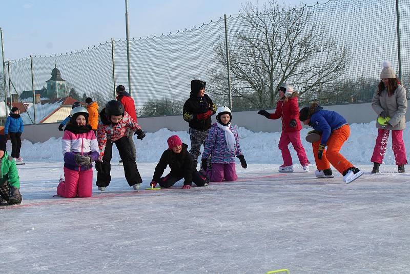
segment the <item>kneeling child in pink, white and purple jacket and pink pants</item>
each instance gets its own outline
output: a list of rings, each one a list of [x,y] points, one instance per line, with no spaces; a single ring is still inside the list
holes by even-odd
[[[93,165],[99,149],[95,133],[88,124],[85,107],[75,107],[61,140],[64,155],[64,179],[60,179],[57,195],[64,198],[91,197]]]

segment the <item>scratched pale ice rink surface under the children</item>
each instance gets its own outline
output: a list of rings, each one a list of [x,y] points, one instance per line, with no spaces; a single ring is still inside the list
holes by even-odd
[[[0,206],[0,272],[410,272],[410,173],[397,166],[359,165],[344,184],[315,178],[315,165],[237,165],[236,182],[161,190],[144,190],[155,163],[138,167],[140,192],[113,166],[105,192],[94,170],[92,198],[64,199],[53,197],[62,162],[18,166],[23,203]]]

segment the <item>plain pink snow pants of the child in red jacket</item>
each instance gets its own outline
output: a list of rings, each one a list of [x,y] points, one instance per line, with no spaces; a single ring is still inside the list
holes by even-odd
[[[283,165],[292,165],[292,156],[288,148],[290,143],[292,143],[293,148],[296,150],[300,164],[302,166],[308,165],[309,160],[300,141],[300,130],[293,132],[282,131],[282,134],[280,134],[279,149],[282,151]]]

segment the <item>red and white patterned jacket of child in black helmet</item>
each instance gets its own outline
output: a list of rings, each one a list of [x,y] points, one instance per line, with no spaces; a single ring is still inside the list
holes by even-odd
[[[136,132],[141,129],[141,127],[134,121],[134,119],[131,118],[127,111],[125,112],[122,120],[116,125],[113,125],[111,121],[108,120],[105,108],[101,110],[99,116],[100,121],[98,122],[97,128],[97,141],[99,147],[99,161],[101,161],[104,157],[104,150],[107,145],[107,140],[115,142],[124,136],[128,136],[128,128]]]

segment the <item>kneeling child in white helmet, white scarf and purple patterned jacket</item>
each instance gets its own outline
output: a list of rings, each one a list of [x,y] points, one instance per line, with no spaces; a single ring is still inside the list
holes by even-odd
[[[202,169],[207,172],[211,182],[236,181],[235,156],[243,168],[247,162],[240,150],[239,136],[236,127],[231,126],[232,112],[228,107],[218,107],[216,123],[208,133],[202,153]],[[207,159],[211,156],[211,170],[208,170]]]

